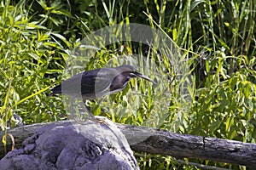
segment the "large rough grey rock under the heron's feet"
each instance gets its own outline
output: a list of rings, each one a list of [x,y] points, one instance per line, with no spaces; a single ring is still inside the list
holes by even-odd
[[[102,119],[102,118],[101,118]],[[125,135],[108,120],[42,127],[23,148],[0,160],[1,170],[139,169]]]

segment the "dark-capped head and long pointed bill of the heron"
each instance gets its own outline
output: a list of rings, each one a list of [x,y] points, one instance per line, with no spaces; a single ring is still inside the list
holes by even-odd
[[[116,67],[116,69],[122,74],[127,74],[128,77],[131,77],[131,78],[141,77],[147,80],[148,82],[153,82],[154,84],[156,84],[156,82],[144,76],[142,73],[138,72],[137,69],[132,65],[121,65],[119,67]]]

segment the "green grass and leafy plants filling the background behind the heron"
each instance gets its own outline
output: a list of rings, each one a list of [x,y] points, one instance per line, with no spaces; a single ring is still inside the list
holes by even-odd
[[[173,46],[177,51],[162,43],[164,47],[154,44],[145,53],[142,44],[117,42],[90,54],[84,61],[85,68],[77,71],[129,61],[143,63],[140,71],[165,81],[153,88],[148,82],[133,80],[123,92],[93,102],[92,111],[115,122],[255,143],[256,5],[253,0],[17,2],[0,3],[0,126],[3,131],[12,111],[26,124],[67,119],[62,99],[47,94],[49,88],[61,82],[66,63],[79,47],[79,40],[105,26],[138,23],[164,31],[177,44],[178,48]],[[182,60],[180,68],[188,69],[185,72],[189,74],[180,75],[168,54]],[[153,72],[147,69],[152,65],[150,62],[155,65]],[[186,86],[182,87],[183,84]],[[189,96],[181,95],[181,88]],[[163,89],[168,89],[170,95],[160,94]],[[198,169],[170,156],[139,154],[137,161],[142,169]],[[184,161],[245,169],[213,161]]]

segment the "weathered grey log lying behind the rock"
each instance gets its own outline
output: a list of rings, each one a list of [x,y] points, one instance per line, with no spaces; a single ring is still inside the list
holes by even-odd
[[[15,137],[15,148],[20,148],[24,139],[35,133],[39,127],[47,124],[64,122],[38,123],[10,129]],[[188,134],[172,133],[166,130],[148,127],[136,127],[116,124],[135,151],[180,158],[201,158],[231,164],[256,167],[256,144],[242,143],[234,140],[215,139]],[[3,132],[0,133],[3,137]],[[8,143],[11,145],[11,142]],[[0,144],[3,157],[3,144]]]

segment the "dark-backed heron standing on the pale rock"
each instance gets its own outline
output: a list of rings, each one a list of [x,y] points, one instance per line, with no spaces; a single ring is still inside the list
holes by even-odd
[[[121,65],[114,68],[101,68],[92,71],[84,71],[78,75],[61,82],[60,85],[51,89],[52,94],[67,94],[73,99],[97,99],[108,94],[114,94],[125,88],[127,83],[134,77],[141,77],[155,83],[148,77],[137,72],[132,65]],[[94,116],[88,110],[90,116]],[[74,113],[73,113],[74,114]]]

